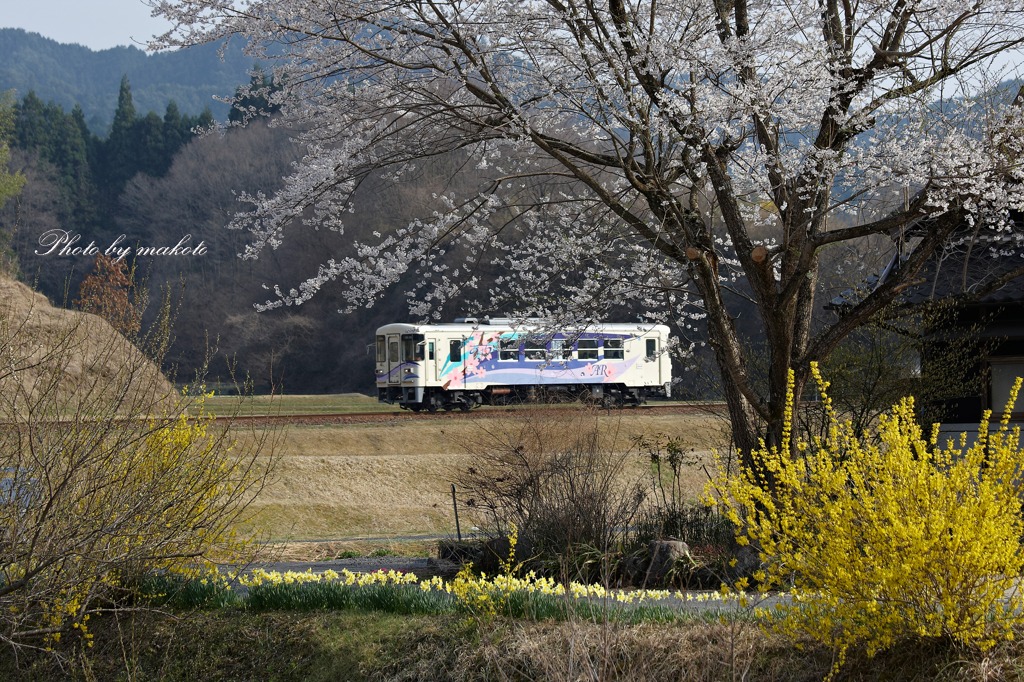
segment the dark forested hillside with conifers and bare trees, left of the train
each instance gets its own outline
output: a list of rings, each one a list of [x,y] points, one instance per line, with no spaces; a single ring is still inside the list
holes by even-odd
[[[360,191],[375,198],[374,209],[351,216],[344,235],[325,231],[253,262],[238,257],[249,236],[225,225],[241,208],[238,190],[270,193],[290,172],[300,148],[288,132],[255,121],[197,136],[213,121],[209,110],[188,114],[172,100],[161,113],[143,114],[127,78],[111,118],[110,134],[98,136],[80,106],[66,111],[31,91],[14,100],[10,165],[28,181],[0,211],[0,269],[71,306],[93,266],[91,256],[72,250],[94,243],[101,253],[118,243],[132,249],[126,262],[153,298],[164,287],[173,290],[179,307],[169,357],[179,376],[213,350],[214,378],[225,376],[223,358],[230,356],[261,389],[273,382],[290,392],[372,390],[368,339],[378,325],[407,317],[401,290],[349,315],[338,314],[345,301],[329,296],[265,313],[253,304],[267,299],[265,283],[308,276],[346,240],[407,223],[436,193],[458,186],[465,160],[440,159],[397,185],[368,179]],[[46,237],[65,233],[79,241],[61,246]],[[202,244],[203,253],[136,257],[139,247],[186,239]]]

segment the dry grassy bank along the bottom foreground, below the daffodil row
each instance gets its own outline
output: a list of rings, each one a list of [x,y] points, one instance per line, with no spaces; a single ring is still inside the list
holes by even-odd
[[[830,653],[745,624],[614,626],[573,621],[489,623],[464,616],[362,611],[180,614],[134,611],[90,623],[95,646],[77,667],[0,651],[0,678],[49,680],[722,680],[817,682]],[[65,644],[62,641],[61,644]],[[70,644],[74,647],[74,644]],[[874,658],[853,655],[837,682],[1020,680],[1016,642],[987,653],[913,642]]]

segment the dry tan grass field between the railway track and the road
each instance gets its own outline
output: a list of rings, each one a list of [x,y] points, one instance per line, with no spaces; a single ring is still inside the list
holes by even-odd
[[[209,407],[224,414],[237,398],[215,397]],[[398,411],[361,395],[287,396],[258,399],[242,414],[282,416]],[[635,435],[665,434],[679,438],[702,460],[726,444],[726,423],[712,414],[664,414],[655,411],[593,411],[558,408],[557,419],[593,420],[606,442],[620,451]],[[488,435],[520,420],[550,419],[552,410],[489,409],[465,418],[438,414],[409,419],[395,414],[376,421],[307,423],[297,419],[281,428],[273,481],[252,507],[249,527],[274,543],[353,542],[388,546],[416,536],[455,536],[452,481],[460,467],[471,466],[473,450]],[[315,422],[315,420],[312,420]],[[482,444],[481,444],[482,443]],[[646,463],[635,456],[635,471]],[[688,472],[687,491],[696,497],[707,476],[699,467]],[[461,510],[465,514],[468,510]],[[473,519],[462,518],[464,531]],[[364,540],[364,543],[367,542]]]

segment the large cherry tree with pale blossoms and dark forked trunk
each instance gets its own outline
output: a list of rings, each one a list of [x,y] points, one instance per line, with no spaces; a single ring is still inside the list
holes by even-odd
[[[156,47],[240,40],[274,65],[262,94],[305,156],[280,191],[244,197],[245,257],[345,230],[368,178],[446,154],[475,178],[265,307],[328,283],[367,304],[417,272],[428,316],[481,265],[504,271],[479,292],[493,309],[585,321],[634,298],[702,328],[742,452],[777,436],[791,368],[799,389],[954,233],[1011,235],[1024,200],[1021,113],[981,94],[1020,55],[1016,0],[151,4],[175,24]],[[871,237],[900,266],[812,325],[823,250]],[[733,291],[760,317],[763,382]]]

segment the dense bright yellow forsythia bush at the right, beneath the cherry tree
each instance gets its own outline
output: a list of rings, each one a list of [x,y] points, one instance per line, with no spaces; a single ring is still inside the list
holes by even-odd
[[[1024,620],[1024,452],[1010,409],[991,432],[986,414],[970,445],[966,435],[940,443],[937,427],[926,436],[912,398],[855,433],[813,373],[827,434],[794,442],[791,384],[781,445],[754,454],[769,489],[752,471],[713,485],[740,543],[760,550],[756,578],[792,592],[775,625],[831,646],[835,670],[857,646],[872,655],[916,637],[981,648],[1011,639]]]

